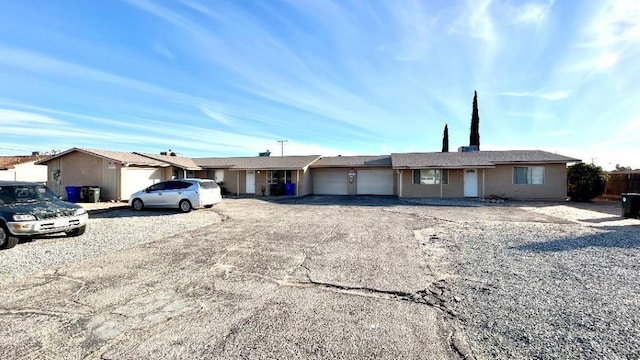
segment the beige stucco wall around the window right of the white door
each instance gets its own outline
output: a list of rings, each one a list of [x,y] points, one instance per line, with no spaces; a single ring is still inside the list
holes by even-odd
[[[544,184],[513,184],[513,168],[515,166],[544,166]],[[482,172],[479,173],[479,177]],[[567,197],[566,164],[527,164],[498,165],[495,169],[487,169],[485,174],[486,196],[499,195],[511,199],[564,200]],[[482,192],[482,188],[480,188]]]

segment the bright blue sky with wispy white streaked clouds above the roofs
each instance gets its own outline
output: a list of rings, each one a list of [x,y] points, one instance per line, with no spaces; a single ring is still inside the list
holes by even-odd
[[[0,0],[0,154],[541,149],[640,168],[640,2]]]

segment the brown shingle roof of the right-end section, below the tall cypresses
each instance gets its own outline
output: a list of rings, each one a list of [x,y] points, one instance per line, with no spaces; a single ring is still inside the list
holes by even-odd
[[[494,167],[515,163],[568,163],[579,159],[540,150],[391,154],[394,169]]]

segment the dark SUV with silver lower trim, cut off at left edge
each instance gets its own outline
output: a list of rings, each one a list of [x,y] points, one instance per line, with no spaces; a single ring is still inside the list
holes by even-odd
[[[0,181],[0,249],[35,235],[82,235],[88,218],[84,208],[60,200],[43,184]]]

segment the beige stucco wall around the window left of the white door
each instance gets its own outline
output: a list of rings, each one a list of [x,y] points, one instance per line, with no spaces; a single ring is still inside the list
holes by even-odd
[[[413,170],[400,170],[401,175],[396,177],[398,183],[402,181],[402,194],[400,189],[396,193],[402,197],[463,197],[464,196],[464,170],[449,169],[449,183],[442,184],[442,193],[440,192],[440,184],[426,185],[413,184]],[[399,178],[402,178],[400,180]],[[481,181],[479,176],[478,182]],[[481,189],[481,187],[478,187]]]

